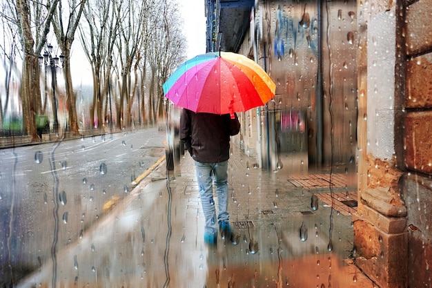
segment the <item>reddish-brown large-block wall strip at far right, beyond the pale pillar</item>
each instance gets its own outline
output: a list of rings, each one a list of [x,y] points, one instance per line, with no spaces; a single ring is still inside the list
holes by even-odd
[[[407,208],[409,287],[432,287],[432,5],[402,1],[401,61],[397,97],[403,142],[397,154],[405,171],[401,192]]]

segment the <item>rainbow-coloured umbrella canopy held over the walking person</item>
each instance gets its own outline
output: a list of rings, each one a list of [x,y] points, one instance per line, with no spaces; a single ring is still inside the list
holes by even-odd
[[[210,52],[181,64],[164,83],[165,97],[194,112],[231,114],[265,105],[276,85],[255,61]]]

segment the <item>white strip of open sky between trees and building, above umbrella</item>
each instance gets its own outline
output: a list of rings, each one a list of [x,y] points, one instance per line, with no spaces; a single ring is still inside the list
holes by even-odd
[[[188,40],[188,59],[206,52],[206,0],[179,1],[184,19],[184,31]]]

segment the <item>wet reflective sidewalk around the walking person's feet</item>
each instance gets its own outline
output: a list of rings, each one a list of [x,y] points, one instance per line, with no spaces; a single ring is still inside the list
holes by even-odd
[[[344,173],[267,172],[234,147],[237,244],[208,247],[193,160],[167,173],[163,158],[17,287],[376,287],[350,258],[357,193]]]

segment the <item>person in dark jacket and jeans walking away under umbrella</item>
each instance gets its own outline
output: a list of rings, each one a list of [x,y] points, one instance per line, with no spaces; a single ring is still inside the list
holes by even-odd
[[[179,135],[184,148],[195,160],[199,195],[206,219],[204,242],[207,244],[217,244],[217,224],[222,238],[230,238],[233,232],[228,213],[228,159],[230,136],[237,135],[239,131],[240,122],[235,113],[195,113],[186,108],[181,111]],[[217,193],[217,216],[213,182]]]

